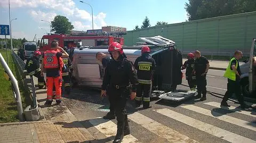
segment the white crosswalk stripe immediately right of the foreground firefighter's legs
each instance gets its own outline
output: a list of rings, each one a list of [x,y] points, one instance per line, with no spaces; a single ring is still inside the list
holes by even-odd
[[[138,112],[128,115],[128,118],[170,142],[198,142]]]

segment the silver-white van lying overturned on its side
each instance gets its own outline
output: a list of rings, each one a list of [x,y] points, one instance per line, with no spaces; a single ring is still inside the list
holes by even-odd
[[[150,47],[150,55],[155,59],[153,90],[170,91],[182,82],[182,54],[170,39],[161,36],[139,37],[145,41],[140,46],[123,46],[124,53],[133,63],[141,55],[142,45]],[[96,59],[97,52],[108,53],[107,46],[80,47],[73,53],[73,78],[78,86],[101,88],[103,68]]]

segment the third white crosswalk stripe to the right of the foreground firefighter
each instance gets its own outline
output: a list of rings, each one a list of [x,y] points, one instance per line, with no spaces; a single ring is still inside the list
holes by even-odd
[[[225,122],[228,122],[228,123],[231,123],[231,124],[238,125],[238,126],[243,127],[243,128],[247,128],[247,129],[256,131],[256,124],[255,123],[251,123],[251,122],[248,122],[248,121],[237,119],[235,117],[224,115],[224,114],[221,114],[221,113],[218,113],[218,112],[206,110],[205,108],[197,107],[195,105],[185,105],[185,106],[181,106],[181,107],[186,108],[187,110],[190,110],[190,111],[194,111],[194,112],[197,112],[197,113],[204,114],[206,116],[215,117],[215,118],[217,118],[221,121],[225,121]]]

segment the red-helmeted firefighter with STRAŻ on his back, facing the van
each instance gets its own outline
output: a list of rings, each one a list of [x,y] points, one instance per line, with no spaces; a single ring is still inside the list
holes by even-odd
[[[137,96],[135,98],[136,107],[141,105],[143,94],[143,108],[150,108],[150,95],[152,87],[153,71],[156,69],[156,62],[150,55],[150,48],[143,46],[141,56],[135,62],[134,67],[137,69],[139,85],[137,87]]]

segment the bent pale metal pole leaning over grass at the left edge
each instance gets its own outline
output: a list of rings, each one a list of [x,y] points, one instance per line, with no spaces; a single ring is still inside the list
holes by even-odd
[[[5,62],[4,57],[2,56],[1,53],[0,53],[0,61],[1,61],[1,64],[3,65],[4,70],[9,75],[9,77],[10,77],[10,79],[12,81],[13,88],[15,90],[14,92],[15,92],[15,95],[16,95],[16,102],[17,102],[19,120],[20,121],[24,121],[23,108],[22,108],[22,102],[21,102],[21,96],[20,96],[20,89],[19,89],[18,81],[14,77],[12,71],[10,70],[9,66]]]

